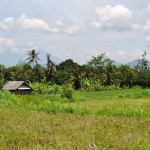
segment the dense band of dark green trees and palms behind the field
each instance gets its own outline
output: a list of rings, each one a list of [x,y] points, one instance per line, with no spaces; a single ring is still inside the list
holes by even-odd
[[[150,87],[150,69],[146,51],[134,68],[128,65],[115,66],[105,53],[92,57],[84,65],[79,65],[72,59],[55,64],[50,54],[47,54],[46,66],[40,64],[39,52],[36,52],[35,49],[29,50],[27,55],[28,58],[20,61],[16,66],[5,67],[0,64],[0,88],[6,82],[15,80],[51,85],[71,84],[75,90],[91,86],[95,90],[101,86]]]

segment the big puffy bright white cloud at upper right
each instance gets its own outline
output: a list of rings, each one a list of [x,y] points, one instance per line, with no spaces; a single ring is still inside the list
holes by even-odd
[[[92,26],[101,30],[126,30],[130,27],[132,12],[123,5],[97,7],[95,11],[96,19]]]

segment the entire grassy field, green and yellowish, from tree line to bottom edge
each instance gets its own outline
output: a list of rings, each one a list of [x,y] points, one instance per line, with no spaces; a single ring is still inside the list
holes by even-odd
[[[150,90],[0,92],[0,149],[150,149]]]

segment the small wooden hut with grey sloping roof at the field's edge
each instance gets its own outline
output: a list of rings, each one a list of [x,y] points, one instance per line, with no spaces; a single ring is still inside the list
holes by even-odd
[[[3,90],[8,90],[15,94],[31,94],[33,89],[25,84],[24,81],[9,81],[4,85]]]

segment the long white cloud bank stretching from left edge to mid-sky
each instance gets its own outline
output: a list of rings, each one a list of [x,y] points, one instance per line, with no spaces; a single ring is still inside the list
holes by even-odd
[[[66,33],[69,35],[77,34],[80,27],[77,23],[68,20],[67,18],[60,18],[56,21],[46,22],[39,18],[27,17],[22,14],[19,18],[8,17],[0,22],[1,29],[12,30],[36,30],[47,33]]]

